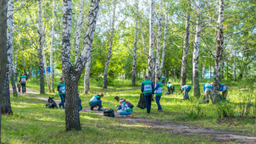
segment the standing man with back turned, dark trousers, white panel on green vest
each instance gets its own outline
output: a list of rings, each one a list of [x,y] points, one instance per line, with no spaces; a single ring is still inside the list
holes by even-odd
[[[151,80],[148,80],[148,76],[145,76],[145,80],[142,82],[142,93],[144,94],[145,97],[147,114],[150,114],[151,97],[153,95],[153,82]]]

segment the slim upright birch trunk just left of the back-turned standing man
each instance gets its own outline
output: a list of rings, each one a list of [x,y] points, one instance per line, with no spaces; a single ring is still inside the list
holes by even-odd
[[[136,13],[138,14],[138,0],[136,0]],[[136,17],[136,22],[135,22],[135,34],[134,34],[134,49],[133,49],[133,64],[132,64],[132,78],[131,78],[131,85],[136,86],[136,42],[137,42],[137,24],[138,24],[138,19]]]

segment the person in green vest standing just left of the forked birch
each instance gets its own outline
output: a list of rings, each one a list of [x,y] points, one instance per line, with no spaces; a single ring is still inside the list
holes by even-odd
[[[61,102],[58,103],[59,108],[65,109],[64,103],[65,103],[65,94],[66,94],[66,84],[64,82],[64,77],[60,78],[60,81],[58,82],[57,91],[58,95],[60,97]]]

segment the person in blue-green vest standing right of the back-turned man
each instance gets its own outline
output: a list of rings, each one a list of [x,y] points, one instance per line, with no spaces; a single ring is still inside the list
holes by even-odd
[[[157,77],[156,81],[157,81],[157,85],[153,89],[153,91],[155,91],[156,102],[158,104],[158,110],[159,110],[159,112],[163,112],[163,109],[160,104],[160,99],[161,99],[161,96],[163,95],[163,84],[160,82],[160,77]]]

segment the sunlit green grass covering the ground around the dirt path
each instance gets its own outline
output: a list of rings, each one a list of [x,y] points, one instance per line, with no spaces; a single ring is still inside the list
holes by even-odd
[[[201,80],[204,83],[207,80]],[[256,87],[248,85],[248,82],[227,82],[223,84],[230,86],[228,100],[231,103],[219,104],[198,104],[199,99],[190,94],[189,101],[181,101],[181,93],[178,91],[179,84],[175,83],[175,94],[164,95],[161,98],[161,105],[164,113],[157,111],[157,105],[153,102],[152,113],[146,114],[146,110],[134,108],[133,116],[160,119],[164,122],[174,122],[183,125],[203,126],[218,130],[231,130],[237,133],[256,136]],[[91,91],[88,95],[82,94],[83,86],[79,86],[82,105],[89,107],[88,102],[92,96],[102,91],[103,107],[114,108],[118,103],[114,101],[115,96],[123,97],[136,105],[139,100],[140,86],[130,86],[128,80],[116,80],[113,86],[103,90],[97,81],[91,81]],[[28,81],[28,87],[39,91],[38,84]],[[134,90],[131,90],[134,89]],[[201,84],[201,90],[203,84]],[[164,87],[164,91],[167,88]],[[201,91],[202,93],[203,91]],[[35,95],[36,97],[49,97],[49,95],[59,99],[57,93],[47,93],[45,95]],[[203,98],[203,93],[201,99]],[[248,100],[249,99],[249,100]],[[109,119],[81,112],[82,131],[65,132],[64,131],[64,111],[59,109],[43,108],[45,102],[31,97],[11,98],[14,116],[3,116],[3,141],[9,143],[19,142],[103,142],[103,143],[166,143],[166,142],[209,142],[212,138],[209,136],[180,136],[161,132],[162,130],[153,130],[145,125],[125,125],[116,119]],[[248,102],[250,107],[248,108]],[[223,110],[227,113],[224,117]],[[247,113],[246,113],[247,112]],[[108,124],[108,125],[106,125]]]

